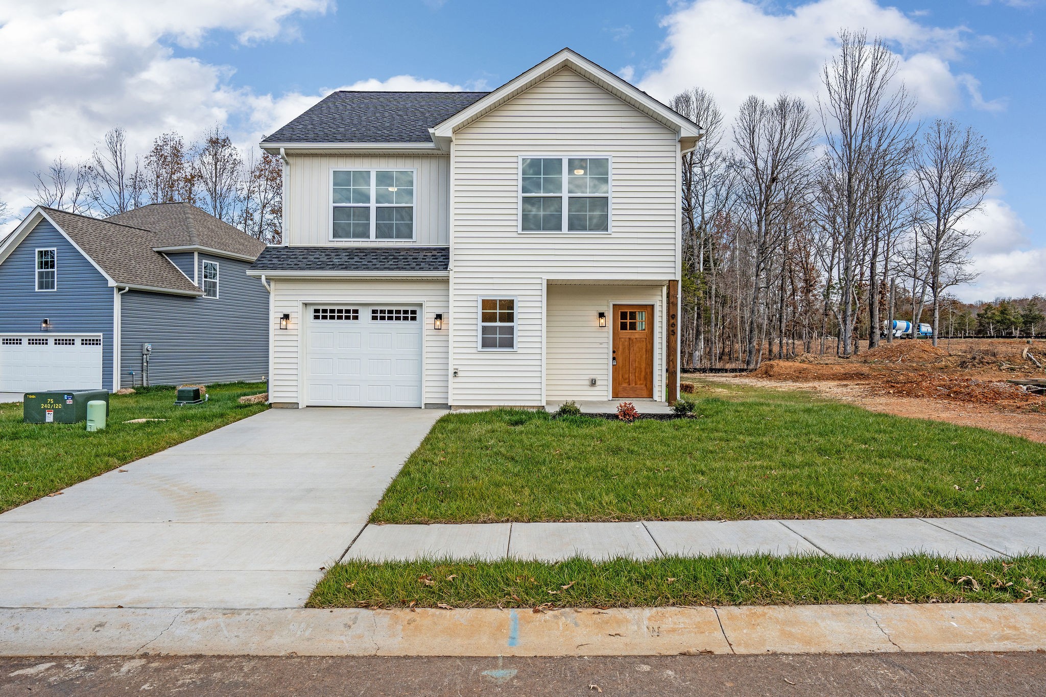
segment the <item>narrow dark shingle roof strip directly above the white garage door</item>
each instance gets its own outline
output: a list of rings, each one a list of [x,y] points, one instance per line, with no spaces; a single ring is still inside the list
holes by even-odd
[[[251,271],[446,272],[448,247],[269,247]]]

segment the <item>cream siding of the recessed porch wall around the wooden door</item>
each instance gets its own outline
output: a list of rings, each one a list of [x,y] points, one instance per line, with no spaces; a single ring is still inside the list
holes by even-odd
[[[611,399],[612,305],[653,305],[655,348],[664,345],[663,285],[549,285],[546,327],[548,401]],[[599,312],[607,313],[600,327]],[[654,351],[654,396],[664,394],[663,348]],[[595,387],[589,378],[596,378]]]

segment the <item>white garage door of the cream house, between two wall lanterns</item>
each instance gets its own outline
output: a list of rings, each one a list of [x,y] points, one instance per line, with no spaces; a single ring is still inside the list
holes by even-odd
[[[306,399],[313,406],[420,406],[419,306],[309,310]]]

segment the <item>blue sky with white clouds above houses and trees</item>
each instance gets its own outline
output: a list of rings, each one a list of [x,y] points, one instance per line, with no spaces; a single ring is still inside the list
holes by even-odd
[[[729,117],[749,93],[812,98],[836,30],[863,26],[902,57],[920,117],[975,126],[995,155],[982,278],[964,295],[1034,292],[1046,263],[1042,0],[22,4],[0,8],[0,200],[16,211],[27,172],[115,123],[132,146],[214,122],[248,145],[332,89],[490,89],[564,46],[662,99],[706,87]]]

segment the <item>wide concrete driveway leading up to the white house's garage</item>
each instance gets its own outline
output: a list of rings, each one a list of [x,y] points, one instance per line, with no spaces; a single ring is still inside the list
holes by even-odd
[[[299,607],[446,412],[269,410],[0,515],[3,607]]]

